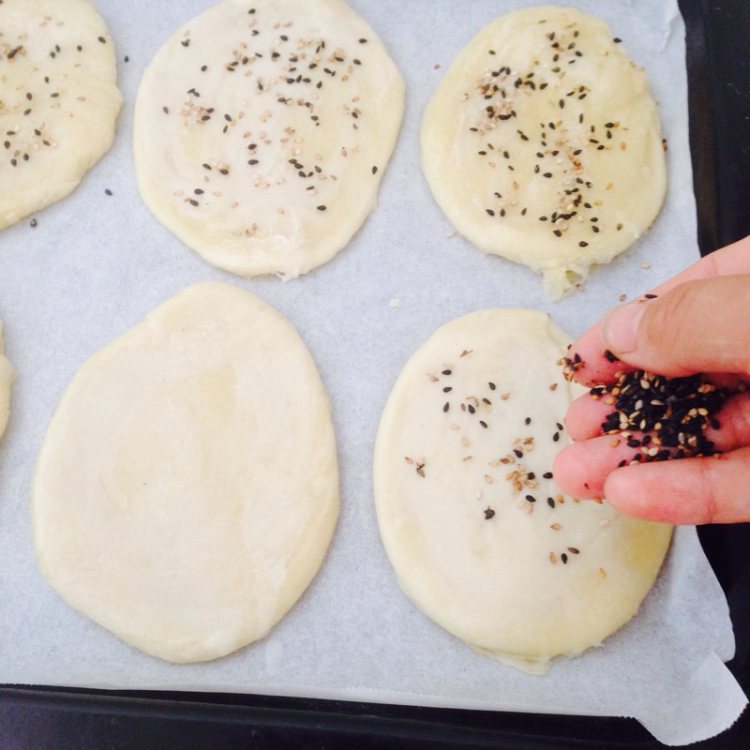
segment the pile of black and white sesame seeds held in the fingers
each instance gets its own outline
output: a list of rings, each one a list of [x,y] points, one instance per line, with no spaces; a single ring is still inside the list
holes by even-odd
[[[719,429],[716,414],[730,395],[704,374],[668,378],[644,370],[621,373],[613,384],[595,386],[590,393],[613,407],[602,432],[637,449],[620,466],[713,455],[714,444],[704,432]]]

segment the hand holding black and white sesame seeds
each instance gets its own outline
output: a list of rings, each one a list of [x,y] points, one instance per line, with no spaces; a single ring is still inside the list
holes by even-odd
[[[711,253],[640,300],[611,311],[574,344],[573,377],[609,384],[643,369],[666,376],[706,373],[733,390],[750,381],[750,237]],[[621,361],[609,361],[608,350]],[[618,467],[634,451],[601,423],[612,410],[589,394],[565,422],[573,445],[554,464],[560,488],[602,498],[623,513],[667,523],[750,521],[750,393],[730,396],[705,436],[719,454]]]

